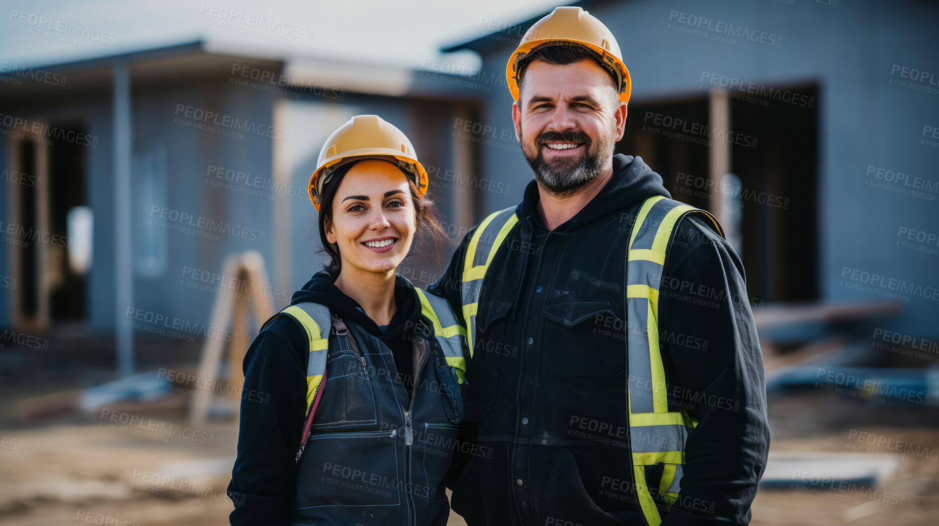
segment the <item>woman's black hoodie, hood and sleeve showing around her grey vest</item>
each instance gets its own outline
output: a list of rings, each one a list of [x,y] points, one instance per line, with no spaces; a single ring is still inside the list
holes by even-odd
[[[344,321],[359,324],[388,345],[397,370],[410,371],[411,341],[406,330],[421,317],[421,303],[408,278],[397,276],[394,284],[397,310],[384,332],[355,300],[336,288],[325,271],[294,293],[290,304],[318,303]],[[233,525],[291,522],[294,458],[305,424],[307,347],[300,326],[281,316],[254,338],[244,357],[240,419],[249,425],[239,428],[238,458],[228,485],[228,496],[236,503],[229,515]],[[402,380],[410,392],[412,378],[408,374]]]

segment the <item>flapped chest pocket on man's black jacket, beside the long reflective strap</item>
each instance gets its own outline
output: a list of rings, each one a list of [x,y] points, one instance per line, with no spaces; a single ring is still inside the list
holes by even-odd
[[[608,380],[626,367],[624,323],[606,301],[546,305],[543,367],[555,378]]]

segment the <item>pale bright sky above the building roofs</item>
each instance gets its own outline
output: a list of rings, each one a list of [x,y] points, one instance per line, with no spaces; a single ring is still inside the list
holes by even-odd
[[[556,1],[556,0],[555,0]],[[545,0],[2,0],[0,61],[17,67],[196,38],[272,53],[420,68],[439,49],[547,12]],[[62,41],[64,40],[64,41]],[[451,60],[478,58],[460,53]]]

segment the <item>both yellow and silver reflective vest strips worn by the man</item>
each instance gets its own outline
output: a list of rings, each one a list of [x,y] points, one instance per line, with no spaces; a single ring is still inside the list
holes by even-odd
[[[639,207],[626,251],[625,306],[630,323],[646,330],[638,338],[625,338],[628,366],[626,403],[629,411],[630,457],[634,489],[643,517],[650,526],[661,524],[653,493],[646,482],[647,467],[663,464],[656,491],[670,509],[681,489],[685,441],[698,425],[684,412],[669,411],[665,367],[658,347],[658,291],[665,258],[675,227],[687,215],[710,221],[724,235],[717,219],[704,210],[685,203],[654,196]],[[476,311],[485,272],[512,229],[518,223],[516,207],[500,210],[480,223],[467,246],[463,267],[461,299],[464,319],[469,325],[469,355],[473,352]],[[655,335],[649,338],[649,335]]]

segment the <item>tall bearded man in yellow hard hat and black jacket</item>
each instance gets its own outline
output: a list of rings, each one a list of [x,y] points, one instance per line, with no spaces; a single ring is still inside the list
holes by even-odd
[[[506,76],[534,180],[430,289],[472,350],[454,510],[470,526],[747,524],[769,430],[740,258],[641,158],[613,155],[630,79],[603,23],[555,9]]]

